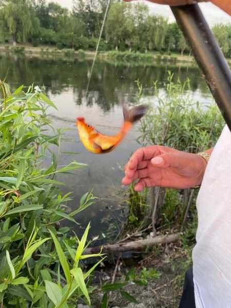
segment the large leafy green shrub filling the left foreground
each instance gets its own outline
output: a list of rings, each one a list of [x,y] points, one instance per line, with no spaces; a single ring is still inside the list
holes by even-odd
[[[57,165],[49,146],[59,146],[62,132],[52,128],[46,110],[55,106],[40,89],[24,92],[21,86],[11,93],[1,82],[0,90],[0,302],[4,307],[73,307],[73,295],[75,304],[83,295],[89,302],[85,281],[96,264],[83,273],[80,263],[89,257],[83,256],[89,225],[79,240],[60,221],[76,223],[73,217],[94,197],[87,192],[80,207],[66,214],[70,193],[63,195],[63,183],[55,178],[86,165]],[[52,162],[45,168],[48,151]]]

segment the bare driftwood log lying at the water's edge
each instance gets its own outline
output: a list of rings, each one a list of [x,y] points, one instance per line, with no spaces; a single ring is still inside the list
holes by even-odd
[[[106,244],[103,245],[102,253],[122,253],[129,251],[143,251],[147,246],[153,246],[156,244],[172,243],[180,239],[180,234],[169,234],[166,236],[150,237],[144,240],[131,241],[118,244]],[[98,254],[101,251],[102,246],[90,247],[85,249],[84,254]]]

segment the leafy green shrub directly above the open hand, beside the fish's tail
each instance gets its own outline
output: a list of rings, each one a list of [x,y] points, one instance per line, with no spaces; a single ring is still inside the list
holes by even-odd
[[[187,90],[190,81],[172,81],[168,72],[164,84],[165,94],[159,94],[158,84],[153,90],[157,104],[150,105],[149,112],[141,120],[141,136],[144,144],[161,144],[179,150],[198,152],[212,147],[220,136],[224,121],[214,104],[202,106]]]

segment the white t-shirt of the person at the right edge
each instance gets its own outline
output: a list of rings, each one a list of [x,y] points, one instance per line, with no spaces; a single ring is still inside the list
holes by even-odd
[[[231,307],[231,133],[224,127],[197,199],[192,252],[197,308]]]

